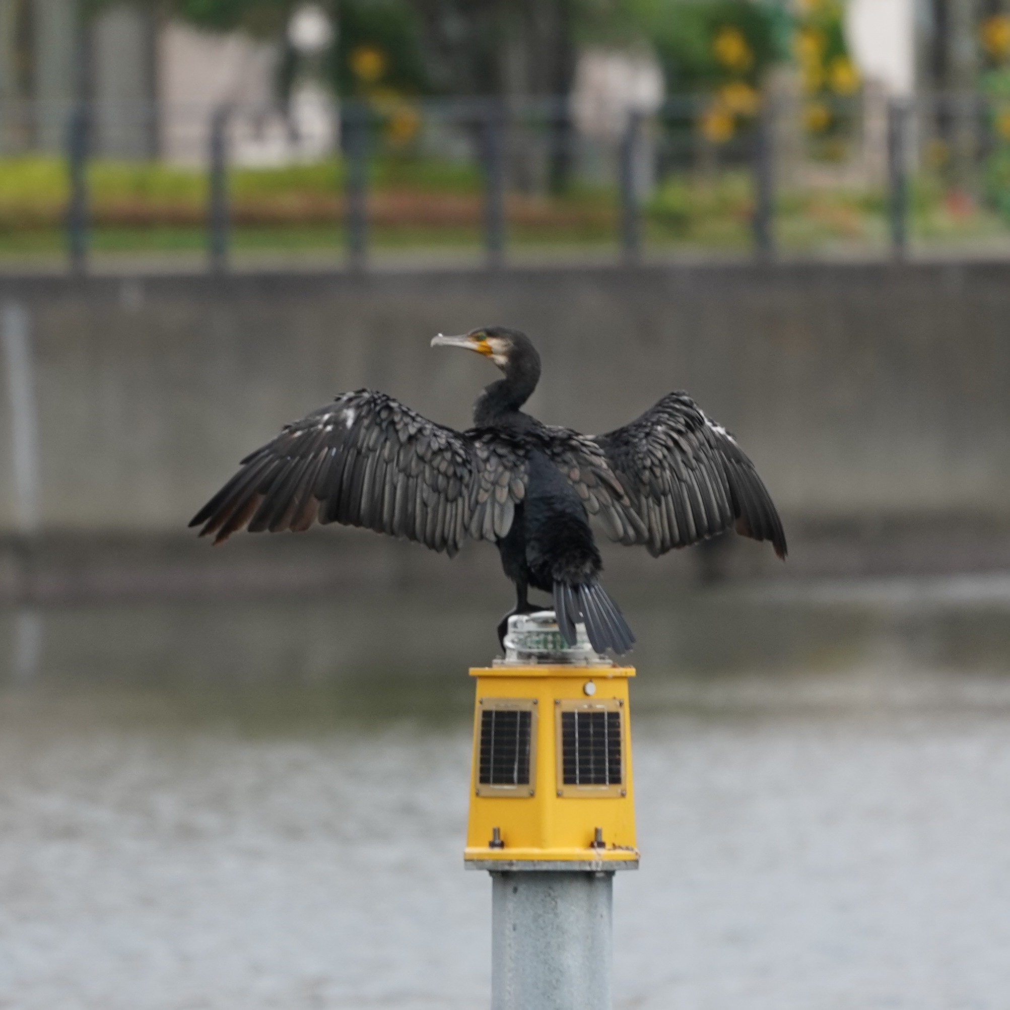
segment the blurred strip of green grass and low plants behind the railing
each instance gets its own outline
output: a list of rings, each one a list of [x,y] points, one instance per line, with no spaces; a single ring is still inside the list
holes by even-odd
[[[398,195],[397,199],[413,194],[410,200],[414,205],[424,207],[429,206],[425,202],[429,197],[433,203],[446,195],[478,199],[482,186],[473,166],[438,160],[386,157],[372,164],[370,175],[373,192]],[[236,254],[339,255],[345,247],[345,235],[335,219],[334,199],[342,186],[343,168],[337,160],[282,169],[232,170],[229,191],[236,205],[254,212],[258,207],[267,208],[273,214],[244,219],[277,221],[236,225],[231,230],[232,248]],[[106,208],[110,222],[92,231],[91,247],[96,254],[171,256],[205,250],[205,173],[156,163],[96,161],[89,168],[89,187],[92,206],[96,212]],[[61,257],[65,250],[61,222],[66,200],[66,172],[59,160],[0,159],[0,256],[6,261]],[[289,216],[289,206],[294,208],[293,216]],[[475,212],[479,202],[471,206],[474,211],[468,213]],[[616,200],[607,187],[579,186],[563,198],[527,198],[522,206],[525,209],[508,228],[512,247],[593,249],[617,243]],[[644,241],[655,249],[742,252],[752,243],[752,206],[751,180],[744,170],[726,170],[711,178],[670,177],[643,207]],[[915,242],[942,245],[977,241],[991,247],[1004,238],[1010,240],[1007,222],[994,209],[957,205],[936,178],[924,175],[916,180],[911,206],[910,233]],[[154,217],[161,223],[143,223],[152,218],[152,207],[159,208]],[[109,208],[118,208],[120,216],[108,216]],[[131,208],[139,208],[136,223],[131,223]],[[299,220],[298,213],[304,223],[293,223]],[[97,219],[102,220],[100,213]],[[425,219],[424,215],[419,219]],[[466,215],[449,215],[444,220],[444,225],[376,224],[370,229],[370,241],[380,250],[480,250],[483,236],[479,218],[467,223]],[[842,190],[781,193],[775,228],[777,241],[786,251],[840,246],[882,249],[888,242],[886,194]]]

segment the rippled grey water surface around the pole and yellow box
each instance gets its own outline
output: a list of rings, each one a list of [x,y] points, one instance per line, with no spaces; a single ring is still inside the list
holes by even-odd
[[[1004,1010],[1010,579],[627,606],[623,1010]],[[0,614],[0,1006],[470,1010],[486,601]]]

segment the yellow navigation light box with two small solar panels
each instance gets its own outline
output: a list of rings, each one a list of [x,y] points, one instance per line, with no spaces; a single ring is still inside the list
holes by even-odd
[[[465,861],[479,869],[637,867],[628,719],[634,670],[506,664],[470,674],[477,704]]]

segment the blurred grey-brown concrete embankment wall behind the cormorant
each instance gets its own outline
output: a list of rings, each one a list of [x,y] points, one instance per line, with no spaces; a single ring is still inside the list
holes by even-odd
[[[465,426],[494,370],[428,340],[495,322],[540,348],[544,421],[605,430],[686,388],[794,517],[1008,512],[1010,266],[8,278],[4,302],[30,314],[50,530],[179,529],[341,390]],[[11,470],[5,402],[0,530]]]

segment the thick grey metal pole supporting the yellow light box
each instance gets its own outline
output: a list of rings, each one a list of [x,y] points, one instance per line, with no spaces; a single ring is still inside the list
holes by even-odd
[[[492,1010],[610,1010],[613,872],[492,872]]]

